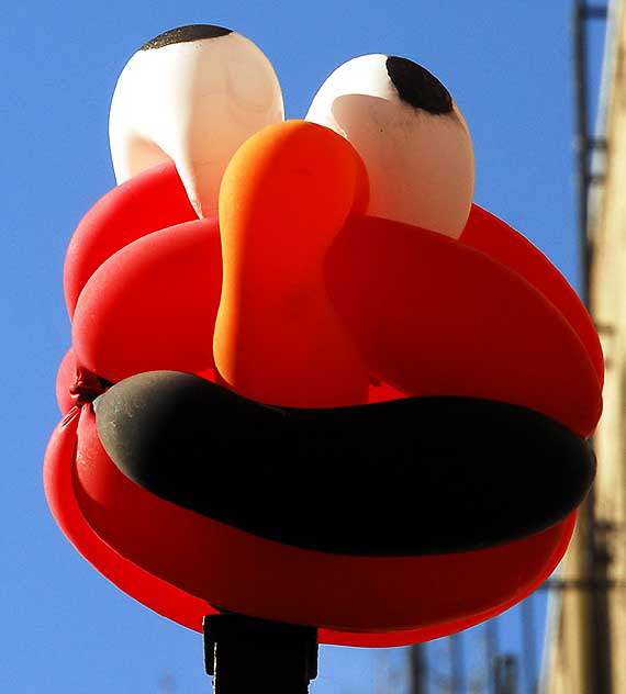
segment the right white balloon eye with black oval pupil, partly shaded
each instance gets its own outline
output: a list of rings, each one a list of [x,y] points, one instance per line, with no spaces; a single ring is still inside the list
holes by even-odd
[[[338,67],[306,120],[346,137],[370,180],[368,213],[458,238],[473,195],[473,150],[465,119],[422,66],[371,54]]]

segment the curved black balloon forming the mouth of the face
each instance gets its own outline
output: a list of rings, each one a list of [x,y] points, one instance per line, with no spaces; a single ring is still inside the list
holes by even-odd
[[[490,400],[276,407],[197,376],[149,371],[93,404],[107,452],[148,492],[332,553],[433,555],[519,539],[573,511],[595,471],[570,429]]]

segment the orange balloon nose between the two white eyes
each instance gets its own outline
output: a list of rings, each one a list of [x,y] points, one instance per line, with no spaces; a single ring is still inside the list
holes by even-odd
[[[324,258],[368,183],[353,146],[305,121],[236,152],[220,190],[223,284],[214,356],[243,395],[291,406],[367,401],[368,377],[329,303]]]

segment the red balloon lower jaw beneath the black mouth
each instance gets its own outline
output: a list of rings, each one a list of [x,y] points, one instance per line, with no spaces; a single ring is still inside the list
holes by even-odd
[[[44,480],[55,518],[77,549],[159,614],[200,630],[202,615],[213,612],[201,598],[210,593],[221,607],[321,624],[323,642],[353,646],[438,638],[499,614],[554,571],[573,529],[571,515],[500,547],[424,557],[288,547],[188,512],[127,480],[102,449],[90,406],[72,411],[53,434]]]

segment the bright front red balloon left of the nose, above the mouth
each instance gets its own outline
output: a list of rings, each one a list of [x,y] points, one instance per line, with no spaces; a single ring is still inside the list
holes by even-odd
[[[72,321],[78,362],[113,382],[154,369],[211,369],[221,287],[215,220],[132,242],[80,293]]]

